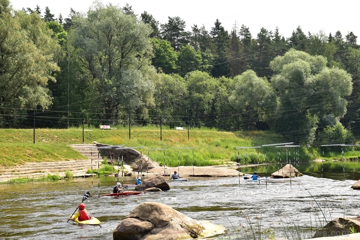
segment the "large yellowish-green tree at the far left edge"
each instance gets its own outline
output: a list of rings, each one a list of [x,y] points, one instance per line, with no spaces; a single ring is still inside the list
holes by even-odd
[[[53,100],[48,82],[59,70],[54,62],[59,45],[37,14],[13,16],[6,2],[0,5],[0,111],[47,109]]]

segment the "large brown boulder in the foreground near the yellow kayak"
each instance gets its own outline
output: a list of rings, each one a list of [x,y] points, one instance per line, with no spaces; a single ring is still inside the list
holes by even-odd
[[[185,240],[215,236],[225,227],[194,220],[162,203],[142,203],[121,221],[114,240]]]

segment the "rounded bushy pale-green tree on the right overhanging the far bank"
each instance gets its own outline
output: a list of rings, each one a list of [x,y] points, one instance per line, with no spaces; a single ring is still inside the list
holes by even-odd
[[[273,129],[296,143],[312,144],[319,120],[346,113],[345,97],[352,92],[350,74],[326,67],[326,58],[289,50],[270,63],[276,73],[271,85],[279,99]]]

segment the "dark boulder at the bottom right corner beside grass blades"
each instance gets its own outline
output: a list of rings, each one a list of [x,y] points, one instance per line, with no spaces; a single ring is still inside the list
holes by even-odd
[[[350,231],[352,228],[352,231]],[[316,231],[313,238],[335,237],[360,232],[360,216],[355,218],[337,218]]]

